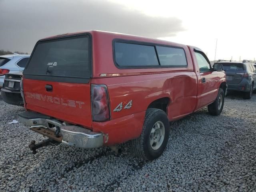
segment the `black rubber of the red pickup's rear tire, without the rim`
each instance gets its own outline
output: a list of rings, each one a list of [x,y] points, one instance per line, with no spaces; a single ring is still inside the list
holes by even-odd
[[[151,131],[153,126],[158,122],[162,122],[161,125],[164,125],[164,136],[160,136],[163,137],[162,144],[158,149],[154,150],[150,144],[150,138],[152,136]],[[154,160],[158,158],[166,148],[169,134],[170,124],[166,113],[160,109],[149,108],[146,111],[144,125],[140,137],[132,140],[132,146],[135,154],[142,160]]]

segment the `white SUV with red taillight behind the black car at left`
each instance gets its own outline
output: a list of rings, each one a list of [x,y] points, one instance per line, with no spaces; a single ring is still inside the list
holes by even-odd
[[[2,55],[0,56],[0,88],[4,84],[6,73],[18,73],[23,71],[30,55]]]

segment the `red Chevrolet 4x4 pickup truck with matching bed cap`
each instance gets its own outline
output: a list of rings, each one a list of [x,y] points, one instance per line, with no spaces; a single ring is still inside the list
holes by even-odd
[[[222,112],[226,75],[199,48],[92,30],[39,40],[21,90],[19,117],[30,130],[80,148],[132,140],[140,158],[153,160],[170,121],[204,106]]]

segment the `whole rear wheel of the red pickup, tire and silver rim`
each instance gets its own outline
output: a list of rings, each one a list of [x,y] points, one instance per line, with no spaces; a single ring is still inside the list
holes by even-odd
[[[163,110],[149,108],[146,111],[142,133],[132,140],[134,152],[143,160],[158,158],[166,148],[170,134],[170,124]]]

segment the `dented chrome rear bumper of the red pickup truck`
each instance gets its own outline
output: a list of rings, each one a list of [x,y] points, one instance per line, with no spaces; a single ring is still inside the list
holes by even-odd
[[[34,112],[21,112],[18,115],[20,122],[30,128],[30,130],[58,142],[79,148],[98,148],[104,144],[103,133],[92,132],[78,126],[65,126],[58,120]],[[56,129],[60,130],[60,134],[57,136],[55,135]]]

